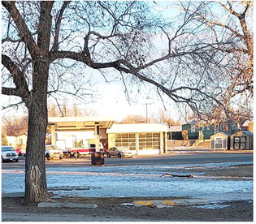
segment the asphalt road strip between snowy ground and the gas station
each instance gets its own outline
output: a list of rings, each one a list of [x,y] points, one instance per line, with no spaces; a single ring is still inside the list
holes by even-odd
[[[146,165],[146,164],[182,164],[182,163],[208,163],[208,162],[253,162],[252,150],[226,150],[226,151],[213,151],[209,149],[180,149],[173,150],[172,152],[158,155],[136,155],[134,157],[105,157],[105,166],[129,166],[129,165]],[[2,168],[23,168],[25,166],[25,158],[20,157],[19,162],[3,162]],[[91,157],[79,158],[63,158],[63,160],[50,160],[46,161],[46,167],[54,166],[92,166]]]

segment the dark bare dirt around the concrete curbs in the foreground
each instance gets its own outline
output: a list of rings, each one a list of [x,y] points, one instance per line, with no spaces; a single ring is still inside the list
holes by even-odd
[[[124,218],[125,220],[145,220],[145,221],[197,221],[197,222],[232,222],[232,221],[253,221],[253,204],[248,201],[232,201],[222,205],[227,205],[223,209],[200,209],[194,205],[176,205],[171,208],[158,209],[149,206],[134,207],[124,206],[123,203],[132,203],[133,200],[145,198],[80,198],[63,197],[59,202],[93,203],[97,204],[96,209],[59,209],[59,208],[38,208],[37,205],[23,205],[20,198],[4,198],[2,200],[2,213],[33,213],[39,218],[41,214],[76,214],[74,221],[86,221],[87,218]],[[150,199],[153,199],[152,197]],[[154,198],[161,199],[161,198]],[[163,199],[163,198],[162,198]],[[11,221],[9,219],[9,221]],[[7,221],[7,220],[2,220]],[[34,221],[44,221],[37,220]]]

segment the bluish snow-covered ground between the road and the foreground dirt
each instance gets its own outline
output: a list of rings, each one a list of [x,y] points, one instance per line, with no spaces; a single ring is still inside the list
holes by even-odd
[[[202,167],[251,164],[227,162],[187,165],[51,167],[46,169],[47,185],[56,196],[120,197],[161,196],[207,198],[211,203],[225,200],[253,200],[253,179],[215,179],[204,176]],[[194,178],[163,176],[195,174]],[[193,170],[193,173],[191,171]],[[197,171],[200,170],[200,171]],[[2,193],[24,191],[24,170],[2,170]]]

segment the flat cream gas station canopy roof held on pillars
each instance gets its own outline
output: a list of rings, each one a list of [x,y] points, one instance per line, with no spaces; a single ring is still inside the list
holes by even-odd
[[[55,131],[94,131],[96,126],[109,129],[114,122],[114,118],[100,116],[48,118],[48,124],[54,125]]]

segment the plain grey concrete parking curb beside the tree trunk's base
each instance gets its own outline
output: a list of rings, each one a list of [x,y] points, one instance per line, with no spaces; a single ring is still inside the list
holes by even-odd
[[[39,207],[39,208],[95,209],[98,206],[96,204],[40,202],[37,204],[37,207]]]

